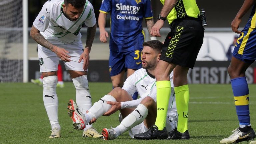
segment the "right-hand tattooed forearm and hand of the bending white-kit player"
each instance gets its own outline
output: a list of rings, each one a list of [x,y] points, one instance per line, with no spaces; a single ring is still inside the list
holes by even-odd
[[[84,64],[83,64],[84,71],[87,70],[89,65],[89,59],[90,59],[89,54],[91,52],[92,43],[96,33],[96,28],[97,28],[96,24],[93,27],[87,28],[87,36],[86,36],[86,44],[85,44],[84,52],[81,54],[80,59],[78,61],[78,62],[81,62],[82,59],[84,60]]]

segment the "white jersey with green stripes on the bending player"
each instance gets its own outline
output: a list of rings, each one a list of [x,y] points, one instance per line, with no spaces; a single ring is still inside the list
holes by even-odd
[[[84,23],[88,27],[96,24],[92,4],[86,0],[84,10],[76,21],[70,21],[61,10],[63,0],[49,0],[36,17],[33,26],[51,43],[71,44],[81,41],[80,29]]]

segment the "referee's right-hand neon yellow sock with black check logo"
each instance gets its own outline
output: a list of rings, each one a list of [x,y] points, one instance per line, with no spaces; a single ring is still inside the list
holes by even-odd
[[[184,133],[188,130],[188,101],[189,89],[188,85],[174,87],[176,106],[178,112],[178,126],[177,130]]]

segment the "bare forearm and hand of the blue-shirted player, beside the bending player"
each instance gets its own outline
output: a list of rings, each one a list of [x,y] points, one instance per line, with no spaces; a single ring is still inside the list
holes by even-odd
[[[107,14],[100,12],[99,14],[99,19],[98,19],[98,24],[100,28],[100,41],[106,43],[108,37],[108,32],[105,30],[106,26],[106,16]]]

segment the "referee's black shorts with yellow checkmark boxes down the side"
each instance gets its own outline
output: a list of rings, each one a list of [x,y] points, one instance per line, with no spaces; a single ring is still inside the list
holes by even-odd
[[[196,18],[176,19],[165,38],[160,60],[193,68],[203,44],[204,28]]]

